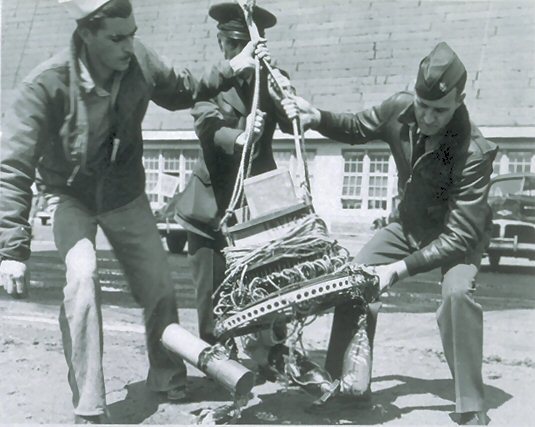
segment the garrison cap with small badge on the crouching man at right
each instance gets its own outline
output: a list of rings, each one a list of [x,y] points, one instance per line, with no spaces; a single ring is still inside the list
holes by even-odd
[[[415,90],[419,97],[430,101],[440,99],[462,80],[466,83],[466,69],[446,42],[437,44],[420,62]]]

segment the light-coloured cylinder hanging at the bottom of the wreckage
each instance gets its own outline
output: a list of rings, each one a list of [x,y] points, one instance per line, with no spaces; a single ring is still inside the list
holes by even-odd
[[[177,323],[165,328],[161,341],[165,348],[199,368],[237,397],[246,396],[254,386],[252,371],[221,355],[214,347]]]

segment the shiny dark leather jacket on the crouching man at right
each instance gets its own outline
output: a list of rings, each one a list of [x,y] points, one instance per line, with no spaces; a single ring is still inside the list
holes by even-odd
[[[483,138],[461,105],[434,150],[416,163],[414,95],[400,92],[360,113],[321,111],[317,130],[349,144],[385,141],[398,170],[400,203],[394,217],[413,252],[404,261],[410,275],[461,260],[476,250],[491,224],[487,203],[496,144]]]

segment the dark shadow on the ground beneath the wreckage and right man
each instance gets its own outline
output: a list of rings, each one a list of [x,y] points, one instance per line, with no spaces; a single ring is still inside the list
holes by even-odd
[[[389,375],[374,378],[376,388],[387,385],[373,393],[371,407],[359,407],[352,399],[333,399],[320,408],[312,408],[313,399],[298,389],[279,390],[274,394],[259,397],[262,402],[247,408],[239,420],[240,424],[361,424],[376,425],[402,418],[414,411],[455,411],[453,382],[450,379],[426,380],[404,375]],[[429,405],[403,405],[398,399],[414,395],[430,395],[447,402]],[[511,395],[503,390],[485,386],[488,409],[503,405]],[[281,399],[284,406],[280,405]],[[400,399],[415,401],[416,399]],[[421,399],[419,399],[421,401]],[[451,403],[448,403],[451,402]]]

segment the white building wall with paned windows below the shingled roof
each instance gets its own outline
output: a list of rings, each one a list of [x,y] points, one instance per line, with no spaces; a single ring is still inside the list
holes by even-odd
[[[494,175],[510,172],[535,173],[535,138],[489,138],[500,146],[494,163]],[[384,142],[349,146],[327,139],[306,142],[312,197],[318,214],[331,227],[350,230],[371,225],[374,219],[387,216],[397,194],[397,171]],[[295,173],[293,140],[274,142],[279,168]],[[147,192],[155,204],[165,198],[158,195],[158,173],[179,178],[183,190],[199,156],[198,142],[149,141],[145,146]]]

